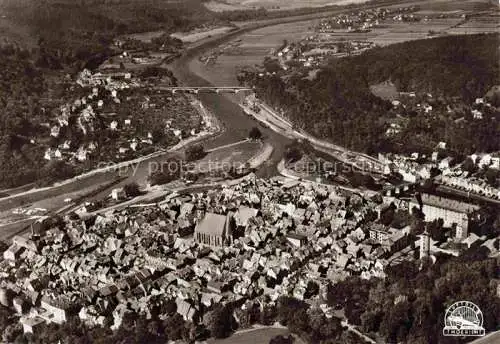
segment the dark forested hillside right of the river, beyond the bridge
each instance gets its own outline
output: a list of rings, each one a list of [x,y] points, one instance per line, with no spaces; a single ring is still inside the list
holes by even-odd
[[[300,72],[276,72],[272,60],[264,63],[267,75],[247,70],[239,80],[256,86],[257,96],[283,110],[297,128],[355,150],[427,150],[446,141],[457,152],[494,151],[500,149],[500,113],[492,107],[483,119],[468,119],[472,102],[500,83],[497,47],[498,34],[441,37],[331,59],[312,80]],[[432,104],[432,114],[416,111],[415,101],[394,109],[375,96],[370,86],[385,81],[400,92],[424,95],[416,100]],[[456,109],[453,114],[448,106]],[[386,137],[396,117],[405,126]]]

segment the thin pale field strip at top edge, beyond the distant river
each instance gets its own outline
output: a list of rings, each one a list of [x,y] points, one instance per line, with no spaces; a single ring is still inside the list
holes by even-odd
[[[215,12],[265,8],[266,10],[290,10],[304,7],[322,7],[363,3],[367,0],[212,0],[205,6]]]

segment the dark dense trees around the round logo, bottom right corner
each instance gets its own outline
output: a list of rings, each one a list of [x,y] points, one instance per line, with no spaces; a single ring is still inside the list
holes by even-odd
[[[328,291],[329,302],[343,307],[349,323],[377,333],[386,343],[461,343],[443,337],[446,308],[468,300],[483,313],[486,332],[500,326],[498,260],[480,252],[461,258],[439,257],[437,264],[405,262],[389,267],[385,280],[349,277]]]

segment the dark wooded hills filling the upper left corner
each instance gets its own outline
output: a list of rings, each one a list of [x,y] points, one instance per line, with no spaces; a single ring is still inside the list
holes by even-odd
[[[96,66],[118,35],[184,31],[217,19],[202,0],[61,1],[6,0],[9,20],[37,37],[40,59],[50,68]]]

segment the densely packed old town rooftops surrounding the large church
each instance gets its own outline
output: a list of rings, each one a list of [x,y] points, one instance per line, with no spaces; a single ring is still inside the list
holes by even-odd
[[[388,258],[412,245],[408,226],[367,221],[374,208],[334,187],[251,175],[142,208],[40,219],[4,252],[2,304],[33,332],[72,316],[117,328],[165,300],[193,322],[218,303],[317,301],[311,283],[383,278]]]

